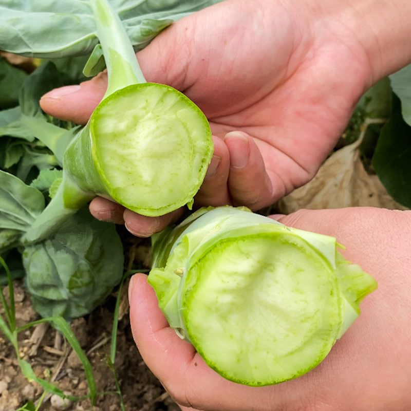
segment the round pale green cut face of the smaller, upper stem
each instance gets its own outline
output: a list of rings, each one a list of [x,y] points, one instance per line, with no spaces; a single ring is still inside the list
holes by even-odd
[[[93,115],[91,130],[108,194],[145,215],[190,202],[213,151],[199,108],[159,84],[129,86],[108,97]]]

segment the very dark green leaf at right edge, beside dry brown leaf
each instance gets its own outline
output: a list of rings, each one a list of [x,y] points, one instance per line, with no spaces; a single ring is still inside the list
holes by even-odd
[[[411,126],[401,113],[401,101],[394,95],[393,112],[381,129],[372,165],[389,195],[411,208]]]

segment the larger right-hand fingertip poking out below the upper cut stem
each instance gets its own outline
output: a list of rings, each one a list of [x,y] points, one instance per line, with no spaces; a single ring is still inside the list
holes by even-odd
[[[178,210],[159,217],[147,217],[125,209],[123,218],[125,227],[130,233],[137,237],[150,237],[178,220],[183,213],[184,208],[181,207]]]

